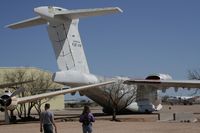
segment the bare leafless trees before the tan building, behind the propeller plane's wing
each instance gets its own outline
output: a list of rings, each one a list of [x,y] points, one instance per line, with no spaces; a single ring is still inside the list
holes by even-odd
[[[40,93],[45,93],[50,89],[61,88],[62,85],[52,82],[51,77],[51,73],[43,72],[41,70],[28,71],[28,69],[16,69],[4,73],[4,81],[6,82],[34,80],[34,82],[18,86],[25,88],[25,91],[22,92],[19,97],[36,95]],[[35,107],[38,115],[40,116],[42,104],[46,103],[49,100],[50,98],[47,98],[44,100],[37,100],[34,102],[28,102],[26,104],[20,104],[16,109],[18,112],[18,116],[20,118],[31,118],[30,115],[33,107]]]

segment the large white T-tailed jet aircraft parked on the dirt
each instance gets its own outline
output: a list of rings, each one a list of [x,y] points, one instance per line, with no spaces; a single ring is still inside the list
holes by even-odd
[[[78,30],[79,18],[123,12],[119,7],[68,10],[56,6],[41,6],[34,8],[34,12],[38,16],[6,27],[20,29],[42,24],[47,25],[59,69],[52,76],[54,82],[77,87],[123,79],[125,85],[136,85],[137,89],[136,99],[126,107],[126,111],[143,113],[162,108],[161,100],[158,98],[158,91],[162,89],[169,87],[200,88],[200,81],[172,80],[168,74],[150,74],[146,78],[138,80],[120,76],[107,78],[90,73]],[[87,91],[79,91],[79,93],[98,103],[103,107],[103,111],[108,113],[111,107],[102,95],[104,88],[97,86]],[[122,99],[122,102],[125,101],[126,98]]]

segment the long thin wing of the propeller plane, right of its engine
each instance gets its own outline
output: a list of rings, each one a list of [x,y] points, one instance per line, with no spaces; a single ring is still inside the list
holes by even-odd
[[[26,102],[31,102],[31,101],[36,101],[48,97],[54,97],[62,94],[67,94],[67,93],[72,93],[76,91],[81,91],[85,89],[90,89],[93,87],[98,87],[98,86],[103,86],[107,84],[112,84],[115,81],[108,81],[108,82],[102,82],[102,83],[97,83],[97,84],[91,84],[91,85],[85,85],[85,86],[80,86],[80,87],[75,87],[75,88],[70,88],[66,90],[60,90],[60,91],[55,91],[55,92],[48,92],[48,93],[43,93],[43,94],[38,94],[38,95],[33,95],[33,96],[27,96],[27,97],[21,97],[18,98],[18,103],[26,103]]]

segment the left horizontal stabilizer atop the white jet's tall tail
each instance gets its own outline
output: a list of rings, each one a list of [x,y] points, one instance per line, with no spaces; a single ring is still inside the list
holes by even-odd
[[[19,28],[26,28],[26,27],[46,24],[46,23],[47,21],[45,19],[42,19],[40,16],[37,16],[31,19],[26,19],[14,24],[7,25],[6,27],[11,28],[11,29],[19,29]]]

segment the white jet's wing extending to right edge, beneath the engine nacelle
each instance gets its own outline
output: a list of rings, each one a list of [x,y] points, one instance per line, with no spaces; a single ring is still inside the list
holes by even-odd
[[[200,80],[126,80],[125,84],[151,85],[158,88],[200,88]]]

